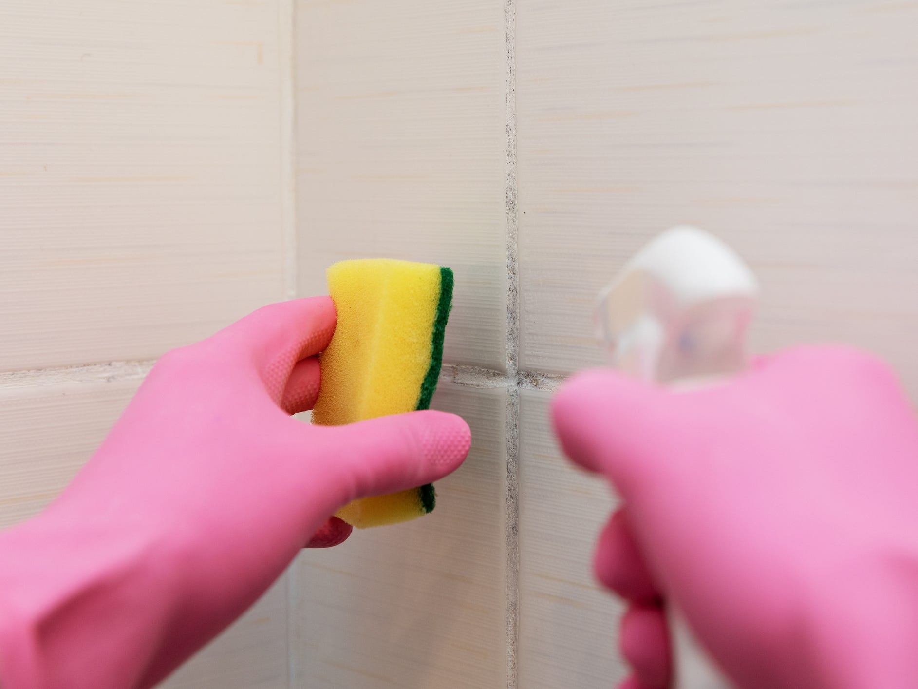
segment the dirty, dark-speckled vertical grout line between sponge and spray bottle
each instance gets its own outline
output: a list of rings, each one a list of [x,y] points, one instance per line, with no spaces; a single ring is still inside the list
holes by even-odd
[[[506,548],[506,614],[507,614],[507,689],[517,687],[517,654],[520,647],[520,501],[517,474],[520,456],[520,278],[518,274],[519,219],[517,216],[517,140],[516,140],[516,0],[504,0],[504,48],[506,51],[506,175],[505,232],[507,233],[507,472],[504,533]],[[470,379],[492,378],[472,372]]]

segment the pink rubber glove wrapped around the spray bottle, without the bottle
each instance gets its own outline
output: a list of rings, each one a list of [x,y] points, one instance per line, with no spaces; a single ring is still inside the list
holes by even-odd
[[[669,680],[658,592],[742,689],[918,686],[918,426],[879,361],[804,348],[688,392],[587,372],[553,415],[625,505],[595,559],[632,603],[623,686]]]

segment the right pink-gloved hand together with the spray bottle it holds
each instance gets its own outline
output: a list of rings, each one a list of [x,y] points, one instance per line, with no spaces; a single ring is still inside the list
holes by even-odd
[[[623,505],[594,558],[629,604],[620,689],[914,689],[912,405],[850,346],[747,365],[756,294],[718,240],[666,232],[600,296],[619,370],[554,395],[565,454]]]

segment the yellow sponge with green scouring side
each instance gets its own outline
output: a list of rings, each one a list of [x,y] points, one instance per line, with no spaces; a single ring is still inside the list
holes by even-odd
[[[321,388],[312,422],[352,424],[427,409],[443,356],[453,271],[440,265],[367,259],[328,270],[338,324],[319,356]],[[336,516],[357,528],[431,512],[433,486],[355,500]]]

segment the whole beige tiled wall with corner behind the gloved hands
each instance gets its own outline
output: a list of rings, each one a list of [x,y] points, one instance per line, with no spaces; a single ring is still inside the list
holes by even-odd
[[[551,390],[599,287],[699,224],[765,287],[758,351],[868,346],[918,395],[918,6],[882,0],[12,0],[0,7],[0,524],[73,476],[152,361],[324,291],[451,265],[431,516],[304,553],[182,687],[610,686],[614,498]],[[294,50],[294,48],[296,50]]]

